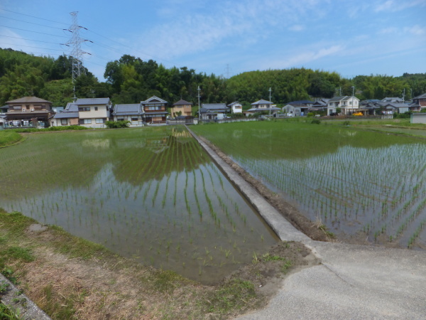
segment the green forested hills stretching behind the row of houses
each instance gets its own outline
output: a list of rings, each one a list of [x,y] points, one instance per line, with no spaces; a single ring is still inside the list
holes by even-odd
[[[35,95],[65,106],[72,101],[71,59],[38,57],[21,51],[0,49],[0,105],[18,97]],[[170,105],[181,98],[197,104],[197,87],[201,101],[230,103],[239,100],[246,105],[259,99],[269,99],[283,104],[314,97],[351,95],[356,87],[356,97],[383,99],[401,97],[409,99],[426,92],[426,73],[407,74],[400,77],[386,75],[359,75],[354,79],[342,78],[338,73],[305,68],[286,70],[251,71],[224,79],[217,75],[195,73],[183,68],[165,68],[153,60],[143,61],[131,55],[107,63],[104,77],[99,82],[86,70],[77,78],[77,97],[111,97],[114,103],[135,103],[152,95],[167,100]],[[340,91],[341,90],[341,91]]]

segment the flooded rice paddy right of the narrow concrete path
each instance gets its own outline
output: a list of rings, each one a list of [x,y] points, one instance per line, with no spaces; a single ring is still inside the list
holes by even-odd
[[[291,122],[194,131],[333,233],[426,249],[425,139]]]

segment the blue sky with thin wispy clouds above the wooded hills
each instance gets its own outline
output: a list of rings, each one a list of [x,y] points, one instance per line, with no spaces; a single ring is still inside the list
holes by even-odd
[[[60,43],[72,11],[94,42],[82,43],[84,65],[102,81],[107,62],[126,53],[224,77],[301,67],[345,78],[426,73],[426,0],[1,0],[0,47],[69,54]]]

